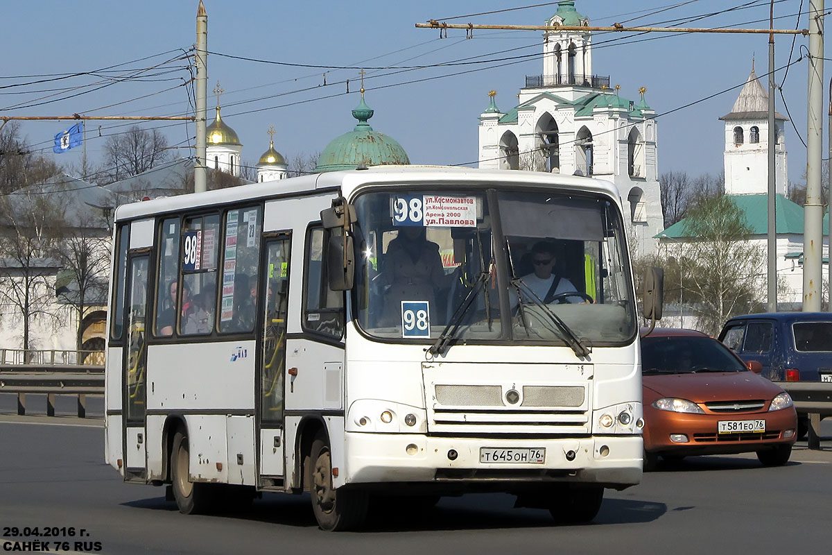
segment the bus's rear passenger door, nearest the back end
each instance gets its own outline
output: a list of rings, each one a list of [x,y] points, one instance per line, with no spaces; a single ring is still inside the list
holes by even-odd
[[[144,482],[147,468],[145,406],[147,399],[147,266],[146,254],[129,255],[125,295],[124,453],[126,481]]]

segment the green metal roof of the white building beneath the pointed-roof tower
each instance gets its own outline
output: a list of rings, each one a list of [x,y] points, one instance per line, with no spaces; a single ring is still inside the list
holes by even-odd
[[[768,195],[726,195],[745,215],[745,221],[750,225],[751,235],[765,235],[768,233],[769,207]],[[804,220],[803,206],[795,204],[777,195],[775,200],[775,212],[777,221],[775,230],[778,235],[803,235]],[[829,215],[824,217],[824,235],[829,230]],[[663,237],[671,239],[691,238],[686,231],[686,219],[677,221],[658,235],[655,239]]]

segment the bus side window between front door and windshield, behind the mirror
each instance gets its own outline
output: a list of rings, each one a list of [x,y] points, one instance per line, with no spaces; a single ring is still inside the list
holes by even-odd
[[[344,334],[344,293],[329,289],[326,273],[327,234],[310,227],[306,234],[306,295],[303,327],[306,331],[340,339]]]

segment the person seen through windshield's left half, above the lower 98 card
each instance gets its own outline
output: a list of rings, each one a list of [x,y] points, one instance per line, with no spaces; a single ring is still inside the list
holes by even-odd
[[[446,275],[439,245],[429,241],[424,227],[402,227],[387,247],[385,271],[390,289],[385,299],[388,325],[400,321],[403,300],[427,300],[436,310],[437,295],[458,280],[457,272]]]

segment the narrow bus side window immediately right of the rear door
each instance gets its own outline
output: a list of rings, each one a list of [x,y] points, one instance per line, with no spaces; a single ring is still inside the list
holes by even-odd
[[[159,274],[156,280],[156,337],[172,335],[176,327],[176,290],[179,287],[179,218],[162,221],[159,230]]]

